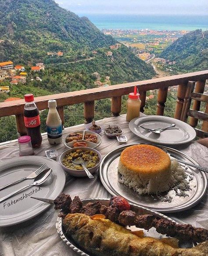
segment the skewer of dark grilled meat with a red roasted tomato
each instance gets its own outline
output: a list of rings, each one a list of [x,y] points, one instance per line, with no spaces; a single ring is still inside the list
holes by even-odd
[[[59,216],[64,218],[68,213],[84,213],[89,216],[104,214],[109,220],[123,226],[136,226],[149,230],[155,227],[160,234],[166,234],[183,241],[204,242],[208,240],[208,230],[193,227],[190,224],[176,224],[171,220],[163,219],[154,214],[137,215],[125,198],[113,196],[109,206],[98,202],[90,202],[83,206],[78,196],[72,200],[70,195],[61,194],[55,200],[35,198],[44,202],[53,203],[54,209],[61,209]]]

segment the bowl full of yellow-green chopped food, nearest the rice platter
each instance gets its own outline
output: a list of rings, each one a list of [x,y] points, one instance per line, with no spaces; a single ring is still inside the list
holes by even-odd
[[[59,163],[67,173],[75,177],[87,177],[83,167],[74,163],[77,159],[82,159],[90,173],[94,173],[100,166],[102,156],[96,149],[87,147],[70,148],[61,154]]]

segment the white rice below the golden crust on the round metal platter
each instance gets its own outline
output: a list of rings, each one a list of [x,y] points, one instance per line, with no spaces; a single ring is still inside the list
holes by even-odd
[[[181,191],[188,190],[186,173],[179,165],[176,159],[171,161],[168,170],[157,175],[142,175],[129,171],[120,161],[118,164],[118,173],[121,174],[120,183],[132,188],[134,191],[142,194],[159,194],[164,191],[175,189],[178,185]]]

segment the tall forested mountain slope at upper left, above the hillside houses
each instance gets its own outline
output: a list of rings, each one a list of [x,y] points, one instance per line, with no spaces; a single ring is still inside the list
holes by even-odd
[[[26,65],[43,61],[47,51],[92,50],[114,44],[86,18],[59,7],[53,0],[0,0],[0,60]]]

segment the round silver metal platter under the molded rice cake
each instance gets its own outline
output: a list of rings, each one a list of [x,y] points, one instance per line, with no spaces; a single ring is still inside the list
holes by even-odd
[[[200,202],[206,195],[208,190],[206,174],[190,166],[182,166],[182,168],[184,168],[185,172],[193,178],[190,180],[191,190],[186,191],[186,194],[188,194],[186,197],[176,196],[176,192],[174,190],[167,192],[166,196],[171,196],[172,202],[161,202],[161,199],[154,195],[139,195],[136,191],[127,187],[125,184],[121,184],[119,182],[120,174],[117,170],[119,157],[125,148],[132,145],[135,144],[124,145],[116,148],[108,153],[100,164],[100,180],[111,195],[121,195],[137,206],[144,206],[160,213],[175,213],[189,209]],[[194,159],[176,149],[163,146],[158,147],[164,148],[165,151],[168,151],[172,158],[198,165]]]

